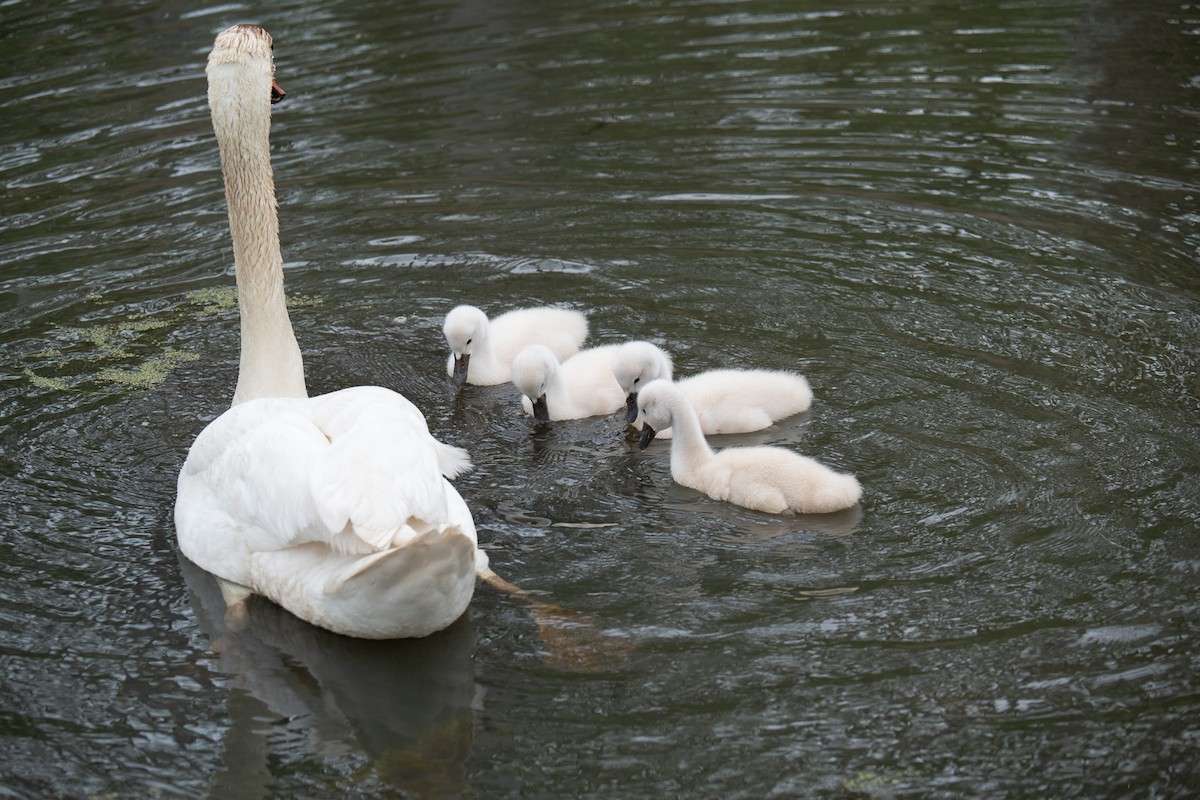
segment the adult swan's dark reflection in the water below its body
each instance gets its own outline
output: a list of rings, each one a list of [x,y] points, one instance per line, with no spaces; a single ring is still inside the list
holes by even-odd
[[[212,576],[180,564],[216,668],[233,681],[212,796],[270,796],[281,762],[344,758],[353,766],[364,756],[365,781],[422,798],[466,792],[475,703],[469,614],[433,636],[389,642],[330,633],[257,597],[229,622]]]

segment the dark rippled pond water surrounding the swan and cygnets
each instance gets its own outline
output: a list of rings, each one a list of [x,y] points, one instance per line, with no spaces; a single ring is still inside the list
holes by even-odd
[[[6,4],[0,795],[1200,790],[1200,8],[1183,0]],[[172,506],[238,319],[203,65],[275,36],[310,390],[403,391],[497,571],[450,630],[226,628]],[[679,374],[803,372],[714,440],[839,469],[772,517],[619,417],[456,397],[456,303]]]

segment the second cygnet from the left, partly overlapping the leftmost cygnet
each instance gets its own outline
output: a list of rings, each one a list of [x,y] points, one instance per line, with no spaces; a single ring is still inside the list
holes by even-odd
[[[625,395],[612,377],[617,344],[580,350],[559,363],[550,348],[530,344],[512,360],[512,384],[526,414],[540,422],[580,420],[620,410]]]

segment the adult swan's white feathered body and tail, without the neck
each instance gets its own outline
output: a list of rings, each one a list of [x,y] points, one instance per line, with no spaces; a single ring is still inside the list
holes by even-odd
[[[323,627],[424,636],[462,614],[487,566],[470,512],[442,476],[466,462],[386,389],[248,401],[188,452],[180,547]]]

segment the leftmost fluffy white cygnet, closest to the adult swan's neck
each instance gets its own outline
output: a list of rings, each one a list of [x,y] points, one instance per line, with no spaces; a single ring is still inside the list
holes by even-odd
[[[518,308],[488,319],[475,306],[456,306],[442,325],[456,385],[493,386],[512,379],[512,359],[529,344],[544,344],[558,359],[575,354],[588,337],[588,319],[568,308]]]

